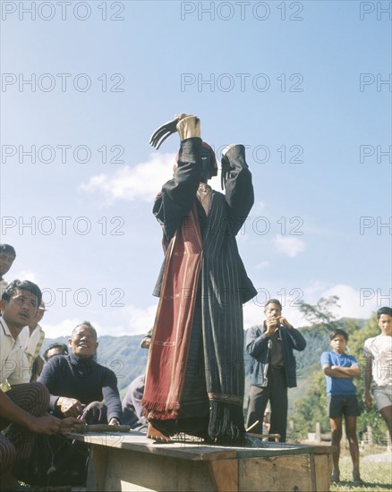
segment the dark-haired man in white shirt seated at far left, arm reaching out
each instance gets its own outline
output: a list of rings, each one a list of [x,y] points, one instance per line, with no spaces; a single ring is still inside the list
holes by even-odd
[[[49,393],[45,386],[29,383],[29,364],[19,334],[37,315],[42,294],[28,280],[14,280],[3,293],[0,317],[0,490],[18,487],[19,470],[30,458],[37,434],[67,433],[76,419],[47,415]]]

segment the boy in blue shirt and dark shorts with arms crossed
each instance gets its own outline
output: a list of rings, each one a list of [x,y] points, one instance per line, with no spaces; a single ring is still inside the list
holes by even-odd
[[[321,366],[327,381],[328,417],[331,426],[333,453],[332,482],[340,480],[339,456],[342,439],[342,416],[345,416],[345,434],[353,461],[354,485],[362,484],[359,471],[359,446],[356,437],[356,418],[360,409],[356,398],[353,377],[360,376],[358,362],[353,355],[345,353],[348,335],[345,330],[334,330],[329,334],[332,350],[321,354]]]

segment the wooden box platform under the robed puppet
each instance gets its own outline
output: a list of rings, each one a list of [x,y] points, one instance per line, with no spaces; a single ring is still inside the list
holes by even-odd
[[[144,434],[73,434],[90,444],[87,490],[329,490],[332,447],[262,443],[257,448],[176,441]]]

